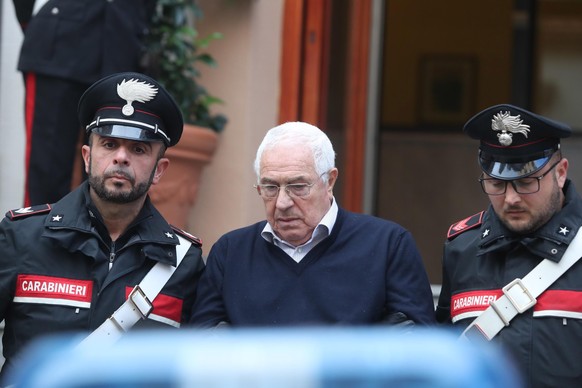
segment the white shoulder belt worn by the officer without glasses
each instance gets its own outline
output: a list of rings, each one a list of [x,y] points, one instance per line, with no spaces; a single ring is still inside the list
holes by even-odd
[[[80,344],[81,347],[92,347],[96,344],[112,344],[123,333],[131,329],[140,319],[145,319],[153,310],[152,301],[168,282],[192,243],[178,235],[180,244],[176,246],[176,266],[166,263],[156,263],[134,287],[125,303],[123,303],[105,322],[89,334]]]

